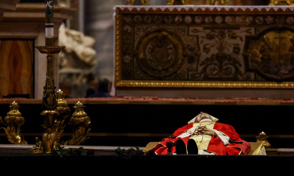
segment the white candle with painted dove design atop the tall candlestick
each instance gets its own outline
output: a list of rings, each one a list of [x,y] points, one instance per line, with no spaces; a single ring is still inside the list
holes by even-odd
[[[53,27],[53,0],[45,0],[45,36],[53,37],[54,36],[54,27]]]

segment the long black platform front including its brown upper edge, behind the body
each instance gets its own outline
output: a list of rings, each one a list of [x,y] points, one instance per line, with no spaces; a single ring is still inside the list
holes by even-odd
[[[90,138],[83,145],[145,147],[149,142],[159,142],[172,135],[202,111],[217,117],[220,123],[232,125],[243,140],[256,142],[256,136],[264,131],[272,148],[294,148],[293,99],[110,97],[66,100],[71,113],[77,101],[83,102],[91,119]],[[29,144],[35,144],[35,137],[44,134],[41,126],[44,121],[40,116],[42,101],[0,99],[3,119],[12,101],[19,103],[19,111],[25,119],[21,133]],[[61,140],[71,135],[69,125],[64,133]],[[0,144],[9,144],[3,129]]]

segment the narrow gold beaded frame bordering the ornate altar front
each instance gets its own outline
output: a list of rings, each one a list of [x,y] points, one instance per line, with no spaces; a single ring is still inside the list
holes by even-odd
[[[272,11],[271,9],[270,11]],[[142,11],[143,13],[154,13],[154,10],[138,10],[138,9],[121,9],[120,7],[115,9],[116,16],[115,16],[115,86],[116,87],[186,87],[186,88],[270,88],[270,89],[292,89],[294,88],[294,82],[220,82],[220,81],[136,81],[136,80],[121,80],[121,13],[136,13],[138,11]],[[156,9],[156,12],[162,11],[166,12],[161,9]],[[223,11],[221,9],[220,11]],[[193,12],[198,13],[206,13],[206,14],[215,14],[219,13],[217,9],[213,9],[213,11],[199,11],[199,9],[193,10]],[[274,11],[274,10],[273,10]],[[176,11],[177,13],[191,13],[191,8],[189,10],[185,10],[184,8],[182,10]],[[224,12],[224,11],[223,11]],[[230,11],[235,12],[235,11]],[[236,11],[237,12],[237,11]],[[275,12],[275,11],[274,11]],[[289,10],[286,11],[277,11],[278,14],[285,13],[289,14],[292,12],[289,12]],[[224,13],[228,13],[225,11]],[[252,14],[258,14],[263,13],[262,10],[257,11],[254,9],[254,11],[248,11],[246,9],[245,11],[240,11],[238,9],[238,13],[252,13]]]

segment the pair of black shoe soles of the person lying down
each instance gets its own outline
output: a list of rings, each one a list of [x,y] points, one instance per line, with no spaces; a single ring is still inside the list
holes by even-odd
[[[189,139],[187,143],[187,148],[182,139],[178,139],[176,142],[176,153],[177,155],[185,154],[187,155],[187,151],[189,155],[198,155],[198,147],[193,139]]]

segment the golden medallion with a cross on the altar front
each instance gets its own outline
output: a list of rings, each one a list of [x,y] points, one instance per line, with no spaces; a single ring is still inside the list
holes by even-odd
[[[294,30],[269,28],[246,38],[244,58],[248,70],[276,81],[294,78]]]

